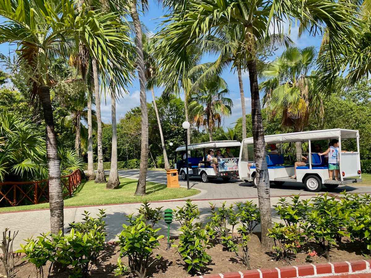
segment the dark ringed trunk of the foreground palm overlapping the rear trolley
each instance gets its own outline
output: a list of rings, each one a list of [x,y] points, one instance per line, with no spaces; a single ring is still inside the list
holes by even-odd
[[[256,184],[261,215],[262,247],[270,249],[272,240],[267,236],[272,227],[269,175],[266,160],[263,119],[260,110],[259,87],[257,83],[256,60],[247,64],[250,77],[252,133],[254,138],[254,159],[256,163]]]

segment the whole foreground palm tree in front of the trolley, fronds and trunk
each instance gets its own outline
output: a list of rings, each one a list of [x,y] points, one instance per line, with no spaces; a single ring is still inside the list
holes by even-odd
[[[316,35],[327,26],[331,33],[329,50],[336,52],[344,38],[352,36],[357,17],[355,5],[350,1],[334,0],[291,0],[291,1],[250,1],[250,0],[184,0],[175,5],[159,38],[159,48],[164,59],[161,62],[163,82],[173,87],[185,64],[185,54],[191,44],[209,34],[223,33],[223,27],[243,29],[241,38],[246,49],[243,66],[249,71],[252,133],[254,138],[257,188],[261,212],[262,246],[268,248],[272,241],[266,236],[271,223],[269,176],[265,159],[265,140],[257,81],[257,45],[269,36],[273,26],[282,33],[283,24],[290,19],[303,23],[303,30]],[[321,3],[321,4],[320,4]],[[168,23],[168,24],[167,24]],[[166,25],[167,24],[167,25]],[[274,32],[275,30],[273,30]]]

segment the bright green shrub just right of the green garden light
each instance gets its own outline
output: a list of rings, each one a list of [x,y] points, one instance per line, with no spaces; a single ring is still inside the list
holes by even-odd
[[[206,253],[206,249],[211,248],[212,245],[202,224],[192,222],[193,219],[190,219],[180,228],[179,243],[173,246],[178,248],[180,257],[186,264],[187,272],[196,274],[202,271],[201,267],[210,263],[211,257]]]

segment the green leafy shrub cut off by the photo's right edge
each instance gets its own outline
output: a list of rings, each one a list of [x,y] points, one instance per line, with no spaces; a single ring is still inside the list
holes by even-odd
[[[352,240],[364,242],[371,255],[371,204],[361,205],[352,212],[348,231]]]

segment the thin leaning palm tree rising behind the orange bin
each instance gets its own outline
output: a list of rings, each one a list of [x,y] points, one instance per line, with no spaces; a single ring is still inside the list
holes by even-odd
[[[145,61],[145,78],[146,80],[149,80],[154,77],[155,74],[158,74],[158,68],[157,68],[157,62],[154,57],[154,49],[155,49],[156,41],[152,37],[147,38],[145,34],[143,34],[143,53],[144,53],[144,61]],[[156,98],[155,93],[153,91],[153,86],[150,86],[150,90],[152,93],[152,99],[153,99],[153,107],[155,109],[156,118],[157,118],[157,124],[158,124],[158,130],[160,132],[160,138],[161,138],[161,145],[162,145],[162,154],[164,158],[164,165],[165,169],[170,169],[169,160],[167,158],[166,153],[166,146],[165,146],[165,140],[164,140],[164,134],[162,133],[161,128],[161,122],[160,122],[160,116],[158,115],[158,109],[156,104]],[[156,166],[156,164],[155,164]]]

